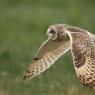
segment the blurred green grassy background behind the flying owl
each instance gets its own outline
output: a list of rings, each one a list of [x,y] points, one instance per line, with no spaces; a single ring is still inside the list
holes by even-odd
[[[77,79],[70,52],[23,80],[48,26],[58,23],[94,33],[95,0],[0,0],[0,95],[95,95]]]

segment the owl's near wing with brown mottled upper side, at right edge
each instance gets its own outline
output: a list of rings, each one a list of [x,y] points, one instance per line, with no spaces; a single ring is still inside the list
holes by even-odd
[[[77,77],[88,87],[95,86],[95,36],[88,31],[68,32]]]

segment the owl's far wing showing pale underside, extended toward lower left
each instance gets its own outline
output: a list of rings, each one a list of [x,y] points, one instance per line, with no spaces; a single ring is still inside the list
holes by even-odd
[[[70,49],[70,40],[47,40],[38,50],[36,57],[30,64],[24,79],[34,77],[49,68],[61,55]]]

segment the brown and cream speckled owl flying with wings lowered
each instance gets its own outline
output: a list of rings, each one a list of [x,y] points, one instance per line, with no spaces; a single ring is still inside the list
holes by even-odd
[[[95,86],[95,36],[87,30],[68,24],[55,24],[47,29],[47,40],[24,75],[35,77],[48,69],[58,58],[71,51],[76,75],[86,87]]]

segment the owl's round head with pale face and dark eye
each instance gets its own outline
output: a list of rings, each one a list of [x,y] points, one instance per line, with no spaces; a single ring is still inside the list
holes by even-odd
[[[67,33],[64,31],[64,26],[65,26],[64,24],[51,25],[46,33],[48,39],[63,40],[64,38],[68,38]]]

